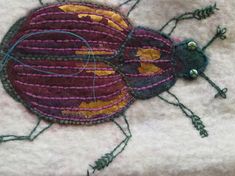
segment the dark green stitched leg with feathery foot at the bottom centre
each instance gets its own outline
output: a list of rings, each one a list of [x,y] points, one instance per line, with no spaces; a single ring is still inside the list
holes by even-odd
[[[94,173],[95,171],[103,170],[104,168],[108,167],[109,164],[112,163],[112,161],[125,150],[129,140],[132,137],[132,134],[131,134],[130,126],[129,126],[126,116],[123,115],[123,118],[126,124],[126,130],[117,121],[113,120],[113,122],[124,134],[125,139],[122,140],[111,152],[106,153],[101,158],[96,160],[94,165],[90,165],[92,169],[91,173]],[[87,170],[87,176],[89,175],[90,175],[90,171]]]

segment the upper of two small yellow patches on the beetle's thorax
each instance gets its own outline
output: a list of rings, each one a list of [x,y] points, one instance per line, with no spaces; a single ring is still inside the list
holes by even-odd
[[[156,49],[140,48],[136,56],[140,57],[141,60],[158,60],[161,58],[161,52]]]

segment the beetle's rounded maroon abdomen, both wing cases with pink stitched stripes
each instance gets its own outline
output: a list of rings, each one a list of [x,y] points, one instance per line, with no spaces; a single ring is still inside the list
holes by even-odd
[[[90,3],[54,4],[19,24],[3,41],[5,50],[33,35],[14,48],[21,63],[8,61],[2,82],[30,111],[60,123],[93,124],[133,102],[121,75],[102,60],[114,58],[132,28],[118,12]]]

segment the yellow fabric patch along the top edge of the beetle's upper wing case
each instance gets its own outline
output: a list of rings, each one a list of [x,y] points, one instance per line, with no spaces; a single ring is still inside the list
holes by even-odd
[[[98,20],[98,22],[101,20],[97,16],[103,15],[105,17],[111,18],[113,21],[120,24],[123,28],[128,28],[128,24],[125,22],[123,17],[121,15],[119,15],[118,13],[110,11],[110,10],[96,9],[96,8],[91,8],[91,7],[84,6],[84,5],[69,5],[69,4],[60,6],[59,8],[61,10],[63,10],[64,12],[84,13],[84,15],[90,16],[92,20],[94,20],[94,21]],[[95,13],[97,15],[90,15],[90,14],[86,14],[86,13]],[[101,18],[103,18],[103,17],[101,17]],[[120,28],[112,20],[108,20],[108,25],[117,29],[117,30],[122,30],[122,28]]]

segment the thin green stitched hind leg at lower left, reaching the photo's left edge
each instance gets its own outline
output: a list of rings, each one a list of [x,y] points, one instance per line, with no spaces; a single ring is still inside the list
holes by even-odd
[[[9,141],[33,141],[36,139],[40,134],[46,131],[48,128],[52,126],[53,123],[49,123],[47,126],[38,130],[42,119],[38,118],[37,124],[32,129],[32,131],[28,135],[17,136],[17,135],[1,135],[0,136],[0,143],[9,142]]]

